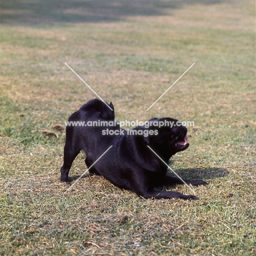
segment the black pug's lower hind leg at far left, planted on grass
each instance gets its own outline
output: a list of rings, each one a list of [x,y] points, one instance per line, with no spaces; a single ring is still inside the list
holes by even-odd
[[[61,167],[61,181],[62,182],[68,182],[68,173],[72,166],[72,163],[74,159],[79,154],[80,149],[73,149],[72,147],[69,147],[69,144],[65,144],[64,147],[64,160],[63,165]]]

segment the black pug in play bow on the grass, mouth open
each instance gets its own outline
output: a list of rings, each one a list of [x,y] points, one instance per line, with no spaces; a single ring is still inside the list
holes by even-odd
[[[104,102],[94,99],[84,104],[69,117],[69,122],[82,121],[87,125],[66,127],[61,181],[68,182],[69,170],[80,150],[84,150],[85,164],[89,168],[110,146],[113,146],[96,164],[91,166],[90,173],[101,175],[117,187],[132,190],[144,198],[198,199],[195,195],[184,195],[155,188],[183,182],[177,177],[166,175],[166,165],[147,147],[152,148],[168,164],[172,155],[188,148],[187,128],[177,123],[176,119],[152,118],[148,121],[147,126],[137,126],[126,131],[121,129],[118,124],[112,126],[115,119],[114,106],[112,103],[108,106]],[[110,125],[91,126],[92,122],[100,124],[100,121],[108,121]],[[174,125],[159,128],[157,122],[160,121],[171,121]],[[109,135],[109,133],[115,134]],[[184,181],[191,185],[207,184],[202,180]]]

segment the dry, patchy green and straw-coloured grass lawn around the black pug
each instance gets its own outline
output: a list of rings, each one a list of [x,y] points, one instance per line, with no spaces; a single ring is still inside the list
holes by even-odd
[[[0,255],[255,255],[254,4],[1,1]],[[146,200],[88,175],[64,194],[56,125],[95,98],[65,62],[117,120],[194,121],[170,166],[207,181],[199,200]]]

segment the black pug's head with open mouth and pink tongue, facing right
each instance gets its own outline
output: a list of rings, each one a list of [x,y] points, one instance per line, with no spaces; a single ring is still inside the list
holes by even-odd
[[[187,128],[177,119],[152,118],[144,129],[149,131],[148,136],[144,136],[144,142],[169,158],[189,147]]]

